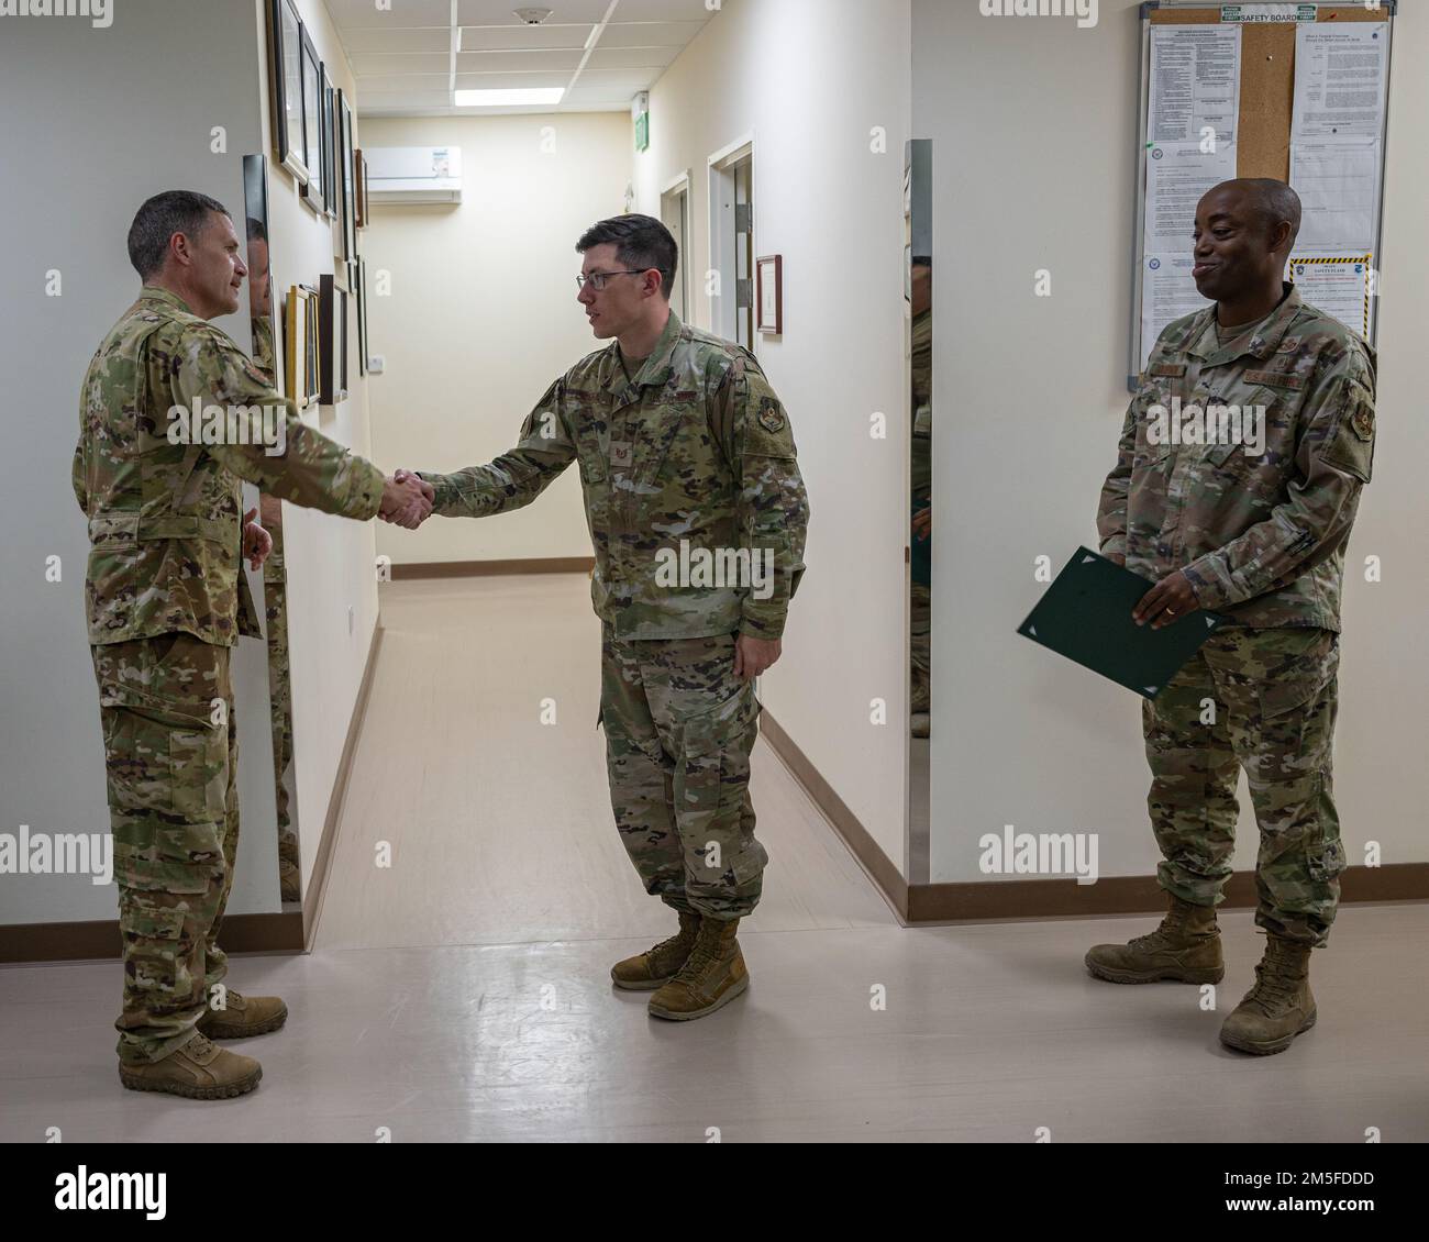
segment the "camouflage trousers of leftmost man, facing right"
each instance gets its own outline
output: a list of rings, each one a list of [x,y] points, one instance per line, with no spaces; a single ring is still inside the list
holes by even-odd
[[[217,945],[239,846],[229,647],[171,633],[91,647],[119,930],[119,1056],[181,1048],[227,973]]]

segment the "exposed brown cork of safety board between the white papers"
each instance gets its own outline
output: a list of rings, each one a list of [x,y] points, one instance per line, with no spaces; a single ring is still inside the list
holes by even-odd
[[[1316,21],[1388,21],[1389,9],[1320,9]],[[1153,9],[1153,26],[1215,26],[1220,9]],[[1295,106],[1295,21],[1240,27],[1240,116],[1236,176],[1290,180],[1290,114]]]

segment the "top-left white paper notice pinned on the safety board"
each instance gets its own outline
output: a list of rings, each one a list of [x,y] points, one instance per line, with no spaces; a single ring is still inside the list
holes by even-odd
[[[1232,143],[1239,113],[1240,27],[1153,26],[1146,140]]]

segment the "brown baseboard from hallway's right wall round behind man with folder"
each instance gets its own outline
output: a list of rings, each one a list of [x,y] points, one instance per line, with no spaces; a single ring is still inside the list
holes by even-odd
[[[1166,906],[1156,876],[1106,876],[1095,885],[1079,885],[1075,879],[910,885],[767,707],[760,716],[760,732],[906,926],[1105,918],[1160,913]],[[1340,878],[1342,906],[1423,900],[1429,900],[1429,862],[1352,866]],[[1220,909],[1255,905],[1255,873],[1236,872],[1226,883]]]

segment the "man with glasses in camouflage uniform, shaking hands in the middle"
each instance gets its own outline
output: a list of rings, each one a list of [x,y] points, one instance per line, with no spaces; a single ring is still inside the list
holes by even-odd
[[[753,683],[780,656],[809,506],[789,417],[753,354],[670,309],[670,232],[620,216],[576,250],[579,302],[613,343],[550,386],[510,453],[422,479],[434,513],[489,517],[579,463],[616,828],[680,920],[610,975],[653,992],[652,1015],[684,1020],[749,986],[735,935],[767,862],[749,798]]]

